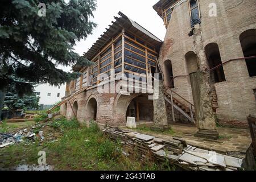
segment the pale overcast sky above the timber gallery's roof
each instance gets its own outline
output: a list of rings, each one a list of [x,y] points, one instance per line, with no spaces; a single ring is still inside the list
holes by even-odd
[[[77,42],[75,52],[80,55],[87,52],[105,31],[105,28],[112,24],[111,22],[115,20],[114,16],[119,16],[119,11],[163,40],[166,28],[164,27],[163,20],[152,8],[156,2],[158,0],[97,0],[97,9],[94,11],[93,21],[98,26],[86,40]],[[70,71],[70,68],[61,68],[65,71]]]

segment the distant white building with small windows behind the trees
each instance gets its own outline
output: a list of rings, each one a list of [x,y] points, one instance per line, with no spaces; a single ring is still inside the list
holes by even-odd
[[[53,105],[56,102],[61,101],[61,98],[65,96],[65,88],[66,85],[61,85],[60,88],[49,84],[40,84],[36,86],[35,92],[40,92],[40,95],[38,95],[40,97],[39,104]],[[48,93],[51,93],[51,96],[48,96]],[[60,93],[60,97],[57,97],[57,93]]]

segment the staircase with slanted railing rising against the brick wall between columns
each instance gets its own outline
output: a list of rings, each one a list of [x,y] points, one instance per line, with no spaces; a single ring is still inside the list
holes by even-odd
[[[179,98],[179,100],[177,98]],[[172,106],[172,118],[174,121],[174,109],[176,109],[183,114],[189,122],[195,123],[195,106],[191,102],[174,92],[171,88],[165,88],[164,99]]]

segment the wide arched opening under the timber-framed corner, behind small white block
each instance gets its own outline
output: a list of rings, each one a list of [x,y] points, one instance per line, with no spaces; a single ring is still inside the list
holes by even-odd
[[[126,118],[135,117],[135,121],[153,121],[154,106],[153,101],[148,100],[147,94],[142,94],[131,100],[126,110]]]

